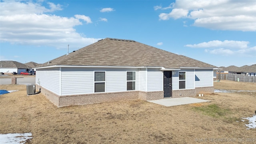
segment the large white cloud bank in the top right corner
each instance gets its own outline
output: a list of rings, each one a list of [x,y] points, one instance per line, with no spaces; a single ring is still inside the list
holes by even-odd
[[[160,20],[190,18],[198,27],[256,31],[254,0],[176,0],[171,6],[171,12],[159,14]],[[162,6],[154,9],[162,9]]]

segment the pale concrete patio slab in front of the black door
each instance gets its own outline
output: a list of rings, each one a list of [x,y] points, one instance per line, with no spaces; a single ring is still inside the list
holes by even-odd
[[[183,98],[164,98],[161,100],[148,100],[148,102],[153,102],[155,104],[160,104],[163,106],[178,106],[183,104],[194,104],[199,102],[210,102],[210,101],[202,100],[199,98],[183,97]]]

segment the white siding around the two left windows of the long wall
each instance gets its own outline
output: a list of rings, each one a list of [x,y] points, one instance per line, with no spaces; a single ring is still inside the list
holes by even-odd
[[[62,95],[94,93],[94,71],[106,72],[105,92],[124,92],[126,72],[136,71],[137,76],[138,68],[62,68]]]

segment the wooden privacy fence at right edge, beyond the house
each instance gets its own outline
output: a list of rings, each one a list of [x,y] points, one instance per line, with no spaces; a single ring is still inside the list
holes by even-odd
[[[232,80],[236,82],[256,82],[256,76],[246,76],[245,74],[216,74],[217,80]]]

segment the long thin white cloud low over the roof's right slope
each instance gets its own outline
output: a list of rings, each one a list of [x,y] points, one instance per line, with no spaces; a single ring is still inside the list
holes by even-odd
[[[223,42],[220,40],[212,40],[209,42],[202,42],[199,44],[187,44],[185,46],[190,48],[218,48],[218,47],[231,47],[231,48],[239,48],[244,49],[248,48],[249,42],[247,41],[234,41],[234,40],[224,40]]]

